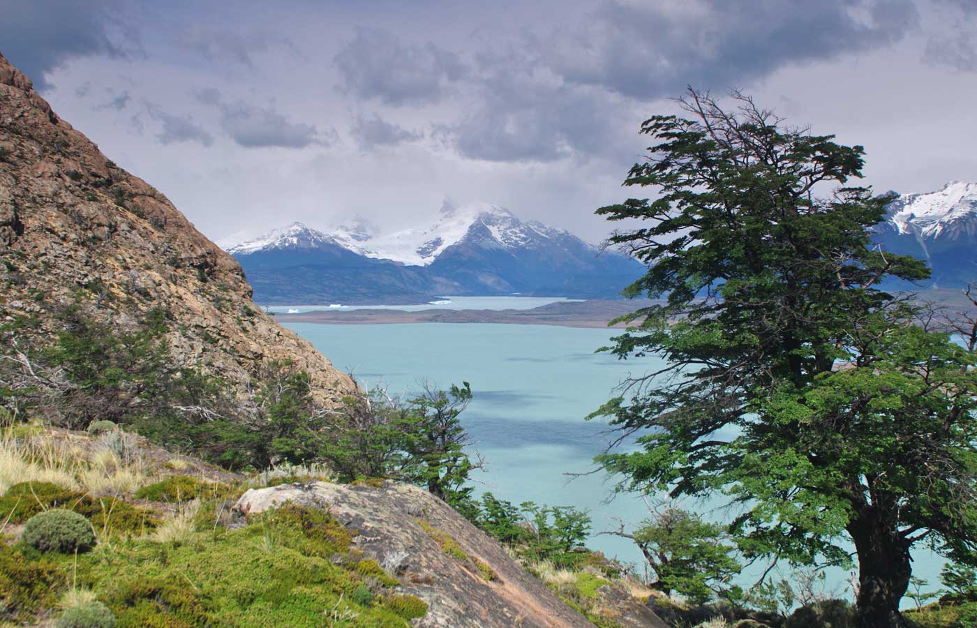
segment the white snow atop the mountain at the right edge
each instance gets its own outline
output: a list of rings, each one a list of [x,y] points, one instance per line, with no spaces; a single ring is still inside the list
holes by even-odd
[[[902,194],[889,205],[889,224],[916,239],[977,237],[977,184],[953,181],[932,192]]]

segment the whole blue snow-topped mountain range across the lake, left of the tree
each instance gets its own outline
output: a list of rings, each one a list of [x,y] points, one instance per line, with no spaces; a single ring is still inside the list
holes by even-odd
[[[379,233],[356,219],[301,223],[231,246],[269,304],[425,303],[442,295],[615,298],[642,266],[570,231],[488,203],[446,201],[424,227]]]

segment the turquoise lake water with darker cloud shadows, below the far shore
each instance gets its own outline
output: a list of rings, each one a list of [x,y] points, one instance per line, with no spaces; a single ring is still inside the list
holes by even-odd
[[[364,387],[382,384],[396,395],[416,391],[425,379],[441,388],[470,382],[475,397],[462,419],[488,462],[487,471],[475,476],[480,490],[516,504],[532,500],[588,510],[594,532],[616,528],[616,519],[639,523],[645,518],[641,500],[614,496],[605,474],[566,475],[593,471],[592,458],[604,447],[607,426],[584,416],[610,398],[629,373],[660,365],[655,358],[622,361],[594,353],[618,332],[484,323],[286,326]],[[708,504],[684,506],[709,519],[729,520],[728,513]],[[595,535],[588,545],[642,564],[640,552],[626,539]],[[914,574],[937,588],[941,562],[921,550],[914,558]],[[748,573],[743,584],[755,577]],[[847,574],[835,569],[829,579],[848,595]]]

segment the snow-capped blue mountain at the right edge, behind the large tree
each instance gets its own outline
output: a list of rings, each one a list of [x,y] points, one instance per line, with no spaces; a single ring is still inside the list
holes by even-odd
[[[977,184],[901,194],[887,209],[875,237],[883,250],[926,260],[939,287],[977,280]]]

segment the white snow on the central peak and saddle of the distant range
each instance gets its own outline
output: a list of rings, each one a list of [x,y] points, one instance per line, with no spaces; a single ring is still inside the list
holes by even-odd
[[[525,249],[538,246],[540,239],[575,237],[566,230],[522,221],[498,205],[476,202],[456,206],[447,199],[425,227],[377,235],[361,229],[361,223],[353,225],[354,229],[342,226],[332,231],[332,237],[361,255],[410,266],[429,266],[449,246],[472,238],[481,239],[483,246]],[[486,233],[490,234],[488,238]]]

